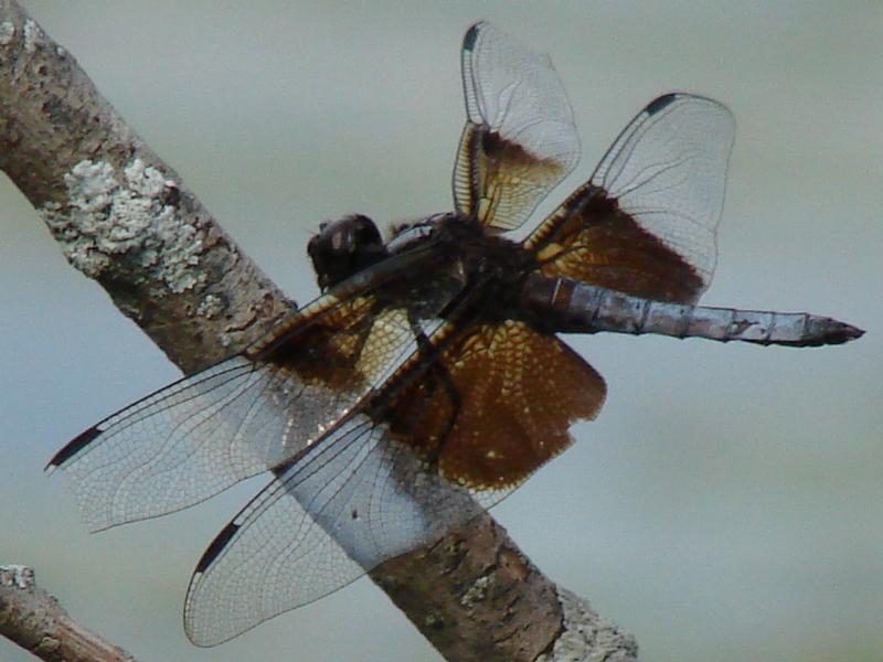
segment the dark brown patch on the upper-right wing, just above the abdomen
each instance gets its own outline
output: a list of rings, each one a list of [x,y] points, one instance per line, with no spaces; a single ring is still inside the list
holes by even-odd
[[[659,301],[694,302],[705,284],[604,190],[587,184],[524,243],[544,276],[563,276]]]

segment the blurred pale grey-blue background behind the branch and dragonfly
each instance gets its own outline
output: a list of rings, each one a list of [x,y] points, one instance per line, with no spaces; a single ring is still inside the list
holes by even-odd
[[[655,96],[736,115],[709,305],[868,330],[789,350],[599,335],[600,418],[494,510],[550,577],[634,632],[641,658],[883,659],[883,4],[870,2],[25,1],[129,124],[298,301],[323,220],[451,207],[459,42],[489,19],[549,52],[587,179]],[[179,376],[70,268],[0,175],[0,563],[23,563],[141,660],[437,660],[362,579],[216,649],[184,638],[204,547],[258,477],[89,535],[43,465]],[[0,658],[26,660],[0,640]]]

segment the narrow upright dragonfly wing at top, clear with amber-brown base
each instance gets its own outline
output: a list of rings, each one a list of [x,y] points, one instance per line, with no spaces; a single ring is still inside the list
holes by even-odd
[[[519,227],[579,160],[573,113],[547,55],[489,23],[462,42],[467,121],[454,169],[457,211]]]

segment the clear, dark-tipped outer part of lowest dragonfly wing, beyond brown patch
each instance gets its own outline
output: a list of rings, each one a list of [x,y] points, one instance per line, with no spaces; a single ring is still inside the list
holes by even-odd
[[[243,510],[196,566],[184,629],[214,645],[429,543],[481,510],[355,415]]]

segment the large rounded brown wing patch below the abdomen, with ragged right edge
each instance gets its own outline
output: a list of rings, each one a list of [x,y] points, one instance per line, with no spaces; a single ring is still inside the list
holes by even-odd
[[[478,324],[396,399],[392,431],[448,480],[514,487],[597,416],[604,378],[553,335],[522,322]]]

